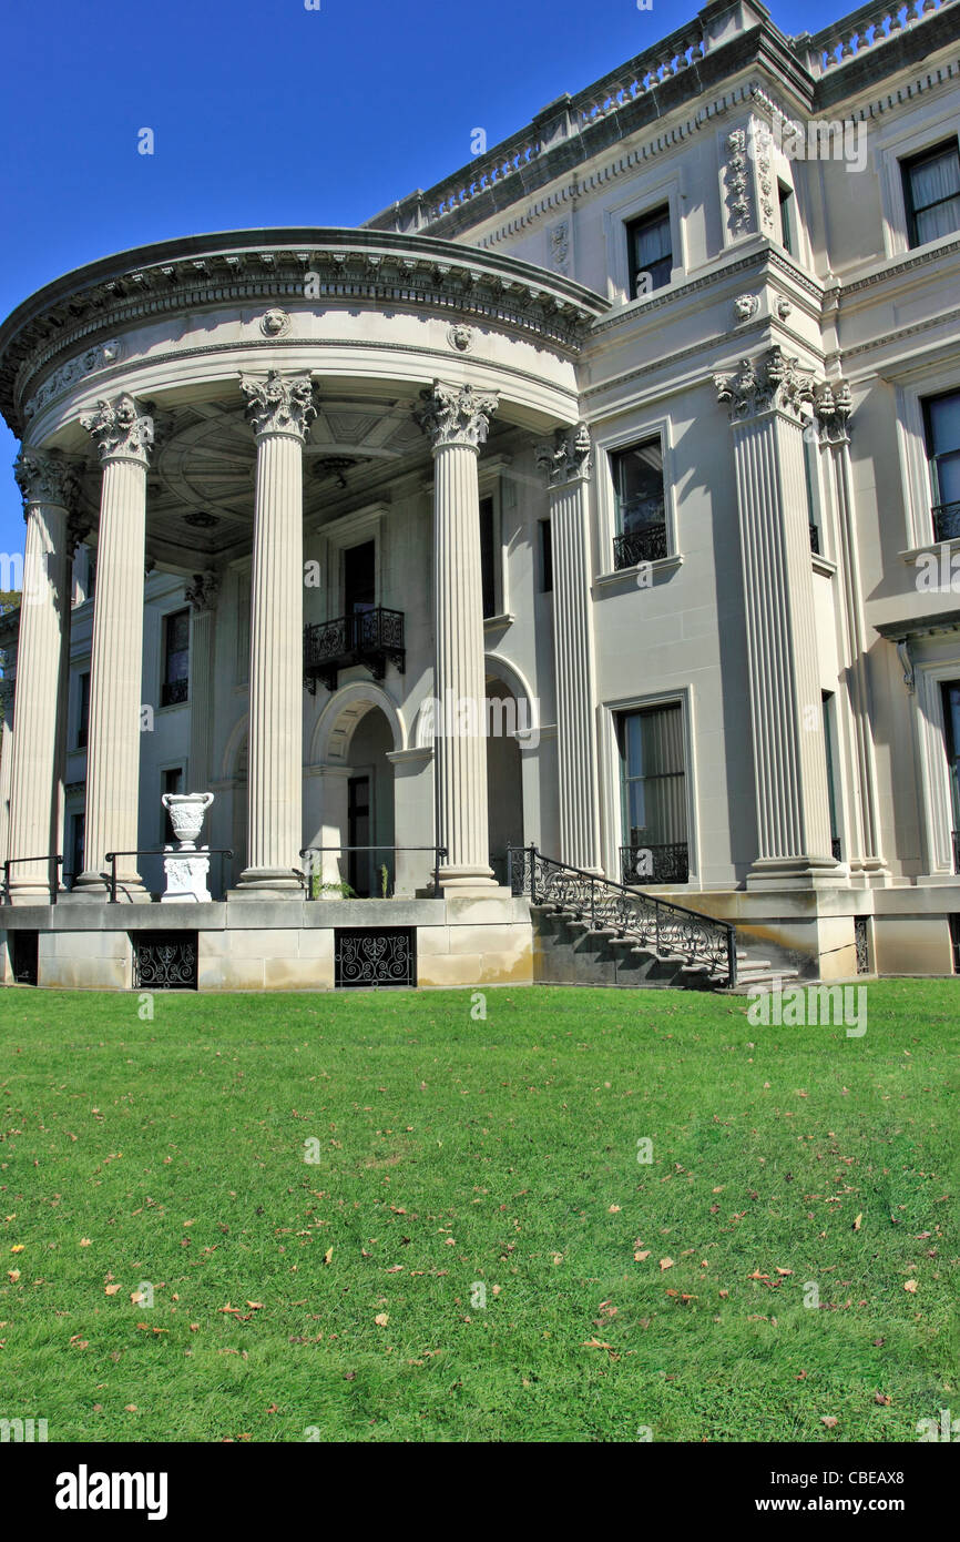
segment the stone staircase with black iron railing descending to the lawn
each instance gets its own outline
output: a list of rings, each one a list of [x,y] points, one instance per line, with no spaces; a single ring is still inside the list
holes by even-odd
[[[795,979],[737,944],[717,921],[584,873],[535,847],[509,853],[510,885],[530,901],[533,978],[550,985],[727,990]]]

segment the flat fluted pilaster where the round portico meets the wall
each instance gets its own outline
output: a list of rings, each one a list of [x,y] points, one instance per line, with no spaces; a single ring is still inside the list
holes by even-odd
[[[550,484],[559,860],[599,873],[599,797],[590,628],[590,435],[558,429],[538,449]]]

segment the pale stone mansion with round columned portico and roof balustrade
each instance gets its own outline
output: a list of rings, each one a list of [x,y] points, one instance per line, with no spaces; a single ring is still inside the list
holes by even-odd
[[[951,0],[712,0],[357,230],[26,299],[6,982],[525,982],[549,874],[676,958],[952,973],[958,117]]]

